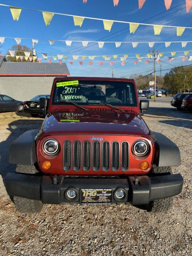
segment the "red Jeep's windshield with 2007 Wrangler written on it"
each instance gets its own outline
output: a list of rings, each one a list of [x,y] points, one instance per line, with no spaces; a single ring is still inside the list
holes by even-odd
[[[68,101],[79,105],[137,106],[134,84],[119,81],[57,81],[52,104],[63,105]]]

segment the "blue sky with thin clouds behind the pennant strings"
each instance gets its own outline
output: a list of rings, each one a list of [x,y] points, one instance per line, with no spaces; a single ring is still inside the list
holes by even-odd
[[[122,20],[130,22],[143,22],[151,24],[162,24],[172,26],[192,27],[192,9],[186,13],[185,0],[173,0],[171,9],[166,11],[164,0],[146,0],[143,8],[139,10],[138,0],[119,0],[118,6],[114,7],[113,0],[87,0],[83,4],[82,0],[41,0],[41,1],[5,1],[0,0],[1,4],[8,4],[19,7],[39,9],[50,12],[60,12],[66,14],[74,14],[80,16],[88,16],[109,20]],[[179,6],[177,6],[179,5]],[[8,7],[0,6],[1,10],[1,29],[0,36],[8,37],[25,37],[34,39],[62,39],[62,40],[82,40],[82,41],[133,41],[133,42],[156,42],[156,41],[192,41],[192,30],[185,29],[182,36],[176,35],[176,28],[163,28],[159,36],[154,35],[152,26],[139,26],[134,34],[130,34],[129,25],[123,23],[114,23],[111,31],[108,32],[103,28],[103,22],[100,20],[85,19],[82,27],[74,26],[73,18],[61,15],[54,15],[51,24],[45,26],[42,13],[30,10],[22,10],[19,21],[13,21],[11,12]],[[160,14],[161,13],[161,14]],[[153,17],[155,16],[155,17]],[[116,33],[117,32],[117,33]],[[114,34],[115,33],[115,34]],[[10,49],[13,44],[16,44],[14,39],[5,38],[5,43],[0,49],[4,54],[7,49]],[[21,44],[28,47],[32,46],[31,40],[22,39]],[[1,45],[1,44],[0,44]],[[178,52],[177,56],[184,56],[183,51],[192,50],[192,43],[188,43],[185,48],[181,47],[181,43],[173,43],[170,47],[165,48],[164,44],[155,44],[154,47],[160,52]],[[111,69],[115,71],[115,77],[129,77],[132,74],[146,75],[153,69],[153,63],[145,64],[145,59],[134,65],[134,54],[147,53],[151,50],[148,44],[138,44],[136,48],[132,44],[122,44],[116,48],[115,44],[104,44],[100,49],[98,44],[88,44],[88,47],[82,47],[81,43],[73,42],[70,47],[66,46],[65,42],[55,42],[50,45],[48,41],[39,40],[36,46],[37,56],[42,58],[41,52],[47,53],[48,56],[56,54],[67,55],[66,64],[69,68],[71,76],[111,76]],[[121,66],[120,58],[114,61],[111,67],[109,63],[105,63],[102,57],[95,58],[93,65],[89,65],[88,58],[83,61],[83,66],[79,65],[78,61],[74,61],[70,65],[68,60],[73,60],[70,55],[116,55],[128,54],[125,66]],[[189,53],[192,55],[192,52]],[[146,55],[142,54],[140,57]],[[164,56],[171,56],[171,53],[164,53]],[[81,61],[82,58],[79,57]],[[53,61],[53,60],[52,60]],[[103,61],[100,66],[98,61]],[[118,61],[118,62],[115,62]],[[162,58],[160,64],[163,69],[173,68],[178,65],[188,65],[191,62],[188,60],[183,62],[181,58],[175,59],[168,63],[166,58]],[[157,70],[160,64],[157,63]],[[163,74],[167,71],[163,71]],[[159,73],[157,73],[159,75]]]

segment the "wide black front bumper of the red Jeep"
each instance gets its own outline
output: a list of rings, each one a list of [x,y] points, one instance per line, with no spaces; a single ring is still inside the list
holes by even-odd
[[[9,195],[40,200],[44,204],[81,203],[81,188],[111,188],[111,203],[148,204],[152,200],[180,194],[183,187],[183,177],[180,174],[171,174],[157,177],[70,178],[8,172],[5,177],[5,187]],[[77,197],[74,200],[65,198],[65,194],[70,188],[77,191]],[[116,200],[114,197],[114,192],[119,188],[126,191],[123,200]]]

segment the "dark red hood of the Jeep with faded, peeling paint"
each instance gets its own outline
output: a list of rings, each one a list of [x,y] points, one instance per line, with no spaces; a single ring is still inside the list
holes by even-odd
[[[41,136],[67,134],[114,134],[148,137],[143,119],[133,112],[91,111],[49,113],[42,124]]]

